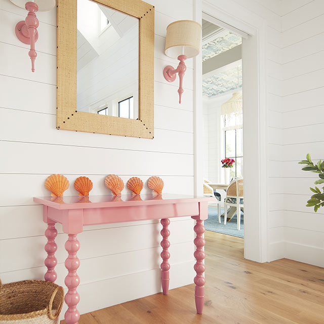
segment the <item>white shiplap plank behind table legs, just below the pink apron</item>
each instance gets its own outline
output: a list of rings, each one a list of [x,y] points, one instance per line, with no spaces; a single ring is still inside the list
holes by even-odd
[[[42,220],[39,220],[42,222]],[[120,254],[137,250],[144,250],[160,245],[160,224],[143,224],[140,226],[112,227],[98,230],[84,231],[77,235],[80,242],[78,258],[80,260],[97,258],[111,254]],[[169,240],[171,244],[193,242],[193,221],[172,222],[169,225]],[[127,237],[127,239],[123,239]],[[66,251],[63,248],[67,234],[58,234],[55,241],[60,247],[55,256],[58,263],[64,263]],[[43,266],[47,253],[44,246],[47,242],[45,235],[0,240],[2,262],[0,272],[22,270]],[[34,251],[31,255],[30,251]],[[37,253],[35,253],[37,251]],[[12,258],[12,256],[15,258]],[[158,257],[158,254],[157,256]],[[82,261],[81,261],[82,262]]]

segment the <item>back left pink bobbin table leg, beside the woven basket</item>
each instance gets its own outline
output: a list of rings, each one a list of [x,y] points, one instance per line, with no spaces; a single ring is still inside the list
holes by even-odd
[[[55,223],[48,223],[45,236],[47,237],[47,244],[45,245],[45,251],[47,252],[47,258],[45,259],[47,272],[44,277],[47,281],[55,282],[57,278],[57,274],[54,270],[57,264],[57,259],[55,258],[55,252],[57,250],[57,245],[55,243],[55,237],[57,236]]]

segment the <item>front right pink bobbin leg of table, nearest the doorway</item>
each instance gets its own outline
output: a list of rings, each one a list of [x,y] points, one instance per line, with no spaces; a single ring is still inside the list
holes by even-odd
[[[198,314],[203,313],[204,298],[205,298],[205,278],[204,278],[204,259],[205,259],[205,239],[204,232],[205,226],[202,220],[197,220],[194,226],[194,231],[196,232],[196,238],[194,239],[194,245],[196,246],[196,251],[194,252],[194,257],[196,258],[196,264],[194,265],[194,270],[196,271],[196,276],[194,277],[195,289],[194,296],[196,302],[196,309]]]

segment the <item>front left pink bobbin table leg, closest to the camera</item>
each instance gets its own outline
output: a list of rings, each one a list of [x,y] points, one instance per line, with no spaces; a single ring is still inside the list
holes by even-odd
[[[76,287],[80,283],[80,278],[76,274],[76,270],[80,265],[80,260],[76,256],[76,252],[80,248],[80,243],[76,239],[76,234],[68,234],[69,238],[65,242],[65,250],[68,252],[68,257],[65,260],[65,267],[68,270],[68,275],[65,277],[65,285],[68,292],[65,295],[65,302],[68,306],[64,318],[66,324],[77,324],[80,314],[76,309],[76,305],[80,300],[79,294],[76,292]]]

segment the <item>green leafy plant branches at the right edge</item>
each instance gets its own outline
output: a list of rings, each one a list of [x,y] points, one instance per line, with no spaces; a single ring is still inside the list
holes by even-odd
[[[314,164],[310,158],[310,154],[306,155],[306,159],[298,162],[299,164],[306,164],[302,168],[304,171],[310,171],[318,173],[319,179],[314,182],[314,184],[324,183],[324,161],[319,160],[317,164]],[[314,207],[314,211],[317,212],[319,207],[324,207],[324,187],[320,190],[318,187],[309,187],[309,189],[314,192],[314,194],[307,200],[307,207]]]

